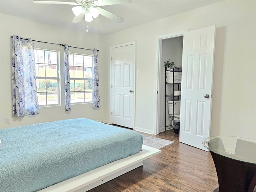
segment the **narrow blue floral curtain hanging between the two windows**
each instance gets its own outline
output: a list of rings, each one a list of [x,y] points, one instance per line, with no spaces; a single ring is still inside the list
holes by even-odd
[[[65,110],[70,111],[69,46],[64,46],[65,57]]]

